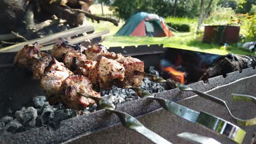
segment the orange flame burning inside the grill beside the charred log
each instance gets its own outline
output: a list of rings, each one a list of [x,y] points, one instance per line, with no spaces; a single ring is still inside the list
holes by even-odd
[[[185,72],[178,71],[172,67],[166,67],[164,70],[171,74],[172,79],[177,82],[184,83],[185,82]]]

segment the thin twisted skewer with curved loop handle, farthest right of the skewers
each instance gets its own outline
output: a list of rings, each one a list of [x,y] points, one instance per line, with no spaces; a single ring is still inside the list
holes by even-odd
[[[199,95],[200,97],[203,97],[205,99],[211,100],[214,103],[223,105],[226,107],[226,109],[228,110],[230,116],[232,118],[234,118],[237,121],[238,125],[242,125],[242,126],[251,126],[251,125],[255,125],[256,124],[256,117],[252,118],[252,119],[240,119],[235,117],[234,115],[232,115],[228,105],[226,104],[226,102],[222,99],[216,98],[210,94],[207,93],[203,93],[200,91],[196,91],[182,83],[179,82],[174,82],[174,81],[166,81],[165,79],[162,79],[162,77],[157,76],[157,75],[152,75],[152,74],[147,74],[141,71],[135,71],[135,73],[137,74],[142,74],[145,77],[147,77],[148,79],[154,81],[154,82],[165,82],[168,85],[172,86],[172,87],[176,87],[179,88],[180,91],[190,91],[190,92],[194,92],[197,95]],[[252,97],[251,95],[242,95],[242,94],[232,94],[232,99],[237,100],[237,101],[248,101],[248,102],[252,102],[254,104],[256,104],[256,98]]]

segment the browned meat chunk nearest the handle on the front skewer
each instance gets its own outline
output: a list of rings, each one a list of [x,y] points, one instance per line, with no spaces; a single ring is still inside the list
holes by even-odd
[[[67,79],[62,82],[62,89],[62,102],[69,109],[81,110],[84,107],[95,104],[94,100],[85,98],[80,94],[90,94],[97,98],[101,97],[100,93],[95,92],[92,89],[90,80],[83,75],[72,75],[67,77]]]

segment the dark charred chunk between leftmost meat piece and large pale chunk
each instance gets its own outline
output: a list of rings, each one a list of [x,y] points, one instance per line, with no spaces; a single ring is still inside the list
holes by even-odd
[[[38,57],[31,59],[31,71],[33,73],[33,79],[40,79],[44,74],[44,69],[49,65],[53,59],[51,55],[45,52],[40,52]]]

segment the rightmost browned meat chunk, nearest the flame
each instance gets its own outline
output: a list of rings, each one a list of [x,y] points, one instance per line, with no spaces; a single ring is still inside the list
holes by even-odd
[[[132,86],[140,86],[143,76],[140,74],[134,74],[135,70],[144,71],[144,62],[133,57],[123,57],[116,59],[117,62],[124,64],[125,79]]]

